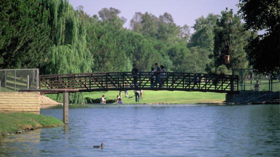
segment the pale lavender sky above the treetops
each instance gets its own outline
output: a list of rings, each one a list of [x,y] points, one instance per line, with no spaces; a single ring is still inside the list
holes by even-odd
[[[121,12],[119,16],[126,18],[124,27],[129,28],[129,21],[135,12],[148,12],[157,17],[164,12],[172,15],[177,25],[192,26],[195,19],[208,13],[219,14],[225,7],[232,8],[236,13],[238,0],[69,0],[74,8],[83,6],[89,15],[97,14],[104,7],[114,7]],[[193,32],[191,28],[190,32]]]

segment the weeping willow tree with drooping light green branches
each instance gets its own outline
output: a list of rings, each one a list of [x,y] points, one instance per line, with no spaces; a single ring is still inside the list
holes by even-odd
[[[86,33],[81,20],[67,0],[43,0],[49,10],[51,36],[53,45],[50,48],[47,73],[80,73],[90,72],[93,66],[92,55],[86,44]],[[57,95],[57,99],[61,94]],[[70,93],[70,103],[83,103],[82,93]]]

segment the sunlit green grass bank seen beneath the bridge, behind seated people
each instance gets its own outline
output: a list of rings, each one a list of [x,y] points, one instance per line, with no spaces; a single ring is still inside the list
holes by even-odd
[[[107,102],[115,101],[118,91],[95,91],[95,92],[85,92],[84,97],[95,103],[100,102],[102,94],[105,95]],[[133,96],[133,90],[128,91],[129,96]],[[56,94],[46,94],[53,100],[56,100]],[[144,90],[143,99],[140,103],[219,103],[225,100],[225,93],[215,93],[215,92],[198,92],[198,91],[166,91],[166,90]],[[62,102],[62,100],[58,100]],[[122,92],[122,101],[124,103],[135,103],[135,97],[125,97],[124,92]],[[88,101],[89,102],[89,101]]]

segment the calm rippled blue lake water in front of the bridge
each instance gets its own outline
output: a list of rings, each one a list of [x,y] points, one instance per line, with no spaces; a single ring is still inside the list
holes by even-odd
[[[41,109],[62,118],[62,109]],[[92,145],[104,143],[104,149]],[[0,156],[280,156],[279,105],[90,105],[0,139]]]

